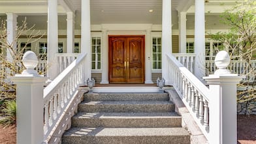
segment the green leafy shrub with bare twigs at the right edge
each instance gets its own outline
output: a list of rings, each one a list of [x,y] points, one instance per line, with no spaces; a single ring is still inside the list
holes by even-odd
[[[253,79],[246,79],[239,87],[245,91],[238,93],[238,102],[246,102],[256,98],[256,68],[251,61],[256,59],[256,1],[244,0],[221,15],[221,22],[229,25],[230,31],[211,35],[212,39],[223,42],[225,50],[229,50],[232,60],[246,61],[247,73],[241,74]]]

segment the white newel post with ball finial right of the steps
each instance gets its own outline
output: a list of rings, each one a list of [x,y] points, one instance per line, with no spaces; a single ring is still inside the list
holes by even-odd
[[[236,84],[242,76],[231,74],[227,69],[230,63],[229,53],[219,51],[216,55],[216,72],[204,77],[209,84],[209,143],[236,143]]]

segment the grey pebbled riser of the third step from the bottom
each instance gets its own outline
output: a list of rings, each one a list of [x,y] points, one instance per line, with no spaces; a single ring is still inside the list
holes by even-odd
[[[154,104],[145,104],[145,105],[90,105],[90,104],[80,104],[78,106],[80,112],[173,112],[173,104],[165,105],[154,105]]]

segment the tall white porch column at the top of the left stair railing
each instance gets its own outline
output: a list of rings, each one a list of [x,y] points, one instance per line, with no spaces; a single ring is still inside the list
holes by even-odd
[[[91,18],[89,0],[81,1],[81,17],[81,53],[87,53],[85,78],[91,79]]]

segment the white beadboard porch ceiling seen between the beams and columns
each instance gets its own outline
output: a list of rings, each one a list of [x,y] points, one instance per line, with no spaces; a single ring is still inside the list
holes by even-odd
[[[0,0],[0,6],[12,7],[13,5],[45,5],[47,7],[48,0]],[[76,12],[75,28],[80,29],[80,12],[81,1],[86,0],[59,0],[66,1],[67,5],[71,5]],[[178,5],[185,5],[189,0],[172,0],[172,24],[173,29],[178,29]],[[239,1],[239,0],[238,0]],[[91,0],[91,24],[101,23],[152,23],[161,24],[162,21],[162,0]],[[205,5],[234,5],[234,0],[208,0]],[[149,12],[148,10],[153,10]],[[47,12],[47,11],[46,11]],[[5,14],[0,14],[3,20]],[[21,23],[24,17],[27,17],[29,25],[36,25],[37,29],[46,29],[47,15],[39,14],[19,14],[18,22]],[[59,14],[59,29],[66,29],[66,15]],[[193,29],[194,15],[187,14],[187,29]],[[225,29],[226,27],[219,23],[218,14],[206,13],[206,29]]]

